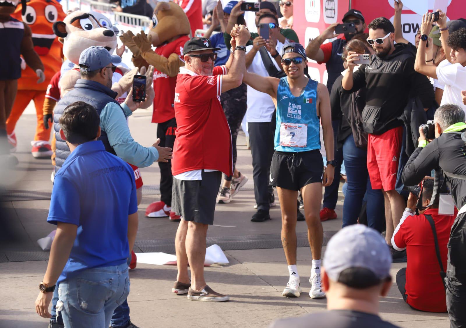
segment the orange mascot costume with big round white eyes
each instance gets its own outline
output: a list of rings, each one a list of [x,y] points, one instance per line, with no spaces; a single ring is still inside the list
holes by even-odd
[[[27,24],[32,30],[32,41],[34,50],[41,58],[45,66],[45,81],[37,83],[37,76],[33,69],[26,68],[21,79],[18,80],[18,94],[13,109],[7,119],[7,134],[10,144],[16,148],[16,136],[14,127],[21,114],[31,100],[34,100],[37,113],[37,125],[32,145],[34,157],[50,157],[52,150],[48,140],[50,139],[51,127],[46,129],[43,123],[42,107],[52,76],[60,71],[62,66],[62,44],[58,41],[52,25],[57,20],[63,20],[66,14],[62,5],[55,0],[31,0],[27,2],[26,13],[21,15],[21,5],[16,8],[14,17]]]

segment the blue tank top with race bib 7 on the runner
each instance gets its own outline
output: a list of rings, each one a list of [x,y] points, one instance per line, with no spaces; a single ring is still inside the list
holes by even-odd
[[[304,92],[293,96],[287,77],[277,90],[275,150],[298,152],[321,149],[320,120],[317,116],[317,81],[309,79]]]

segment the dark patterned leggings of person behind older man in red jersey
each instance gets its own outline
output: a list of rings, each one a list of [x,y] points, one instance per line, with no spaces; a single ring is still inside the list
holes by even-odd
[[[221,94],[220,102],[222,103],[223,111],[226,116],[226,121],[230,126],[232,132],[232,146],[233,146],[233,171],[236,166],[236,138],[240,131],[241,122],[247,110],[247,86],[241,84],[238,88],[228,90]],[[226,181],[231,181],[233,176],[228,177],[225,175]]]

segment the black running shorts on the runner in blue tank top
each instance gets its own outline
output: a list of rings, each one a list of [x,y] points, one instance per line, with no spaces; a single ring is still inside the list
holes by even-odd
[[[323,159],[318,149],[302,152],[275,151],[270,167],[274,187],[301,190],[315,182],[322,183]]]

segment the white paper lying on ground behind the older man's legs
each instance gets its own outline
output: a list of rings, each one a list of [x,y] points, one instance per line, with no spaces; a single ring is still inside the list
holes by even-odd
[[[176,256],[167,253],[136,253],[137,263],[155,264],[158,266],[176,264]],[[206,248],[205,266],[212,264],[230,264],[219,245]]]

